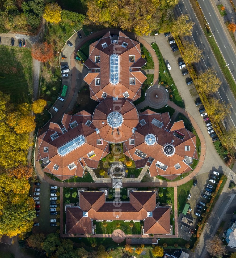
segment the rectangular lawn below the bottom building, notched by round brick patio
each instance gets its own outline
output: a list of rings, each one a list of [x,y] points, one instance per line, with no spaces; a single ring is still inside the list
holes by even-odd
[[[107,223],[107,227],[103,227],[103,223]],[[133,227],[130,227],[130,223],[133,223]],[[116,229],[121,229],[125,234],[141,234],[140,222],[124,222],[123,220],[112,222],[98,222],[94,221],[96,225],[96,234],[112,234]],[[120,227],[116,227],[120,224]]]

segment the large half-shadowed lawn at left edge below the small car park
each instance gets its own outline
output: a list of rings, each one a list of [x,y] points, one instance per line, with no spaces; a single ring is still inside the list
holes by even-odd
[[[0,45],[0,57],[0,91],[9,94],[14,104],[31,103],[33,74],[30,49]]]

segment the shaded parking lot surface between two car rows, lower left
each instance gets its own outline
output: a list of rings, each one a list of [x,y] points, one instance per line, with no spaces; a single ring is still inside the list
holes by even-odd
[[[40,186],[35,186],[33,183],[33,192],[35,192],[35,188],[40,188],[40,194],[38,195],[39,201],[40,201],[40,207],[36,209],[40,209],[40,212],[36,212],[39,214],[38,217],[34,219],[34,223],[39,223],[39,226],[33,226],[33,234],[35,233],[55,233],[57,229],[60,229],[60,227],[57,226],[50,226],[50,219],[56,219],[56,215],[50,215],[50,184],[48,184],[46,181],[41,182]],[[58,189],[60,192],[60,188]],[[37,195],[33,195],[33,197],[36,197]],[[57,199],[60,199],[60,196],[57,197]],[[37,201],[37,200],[36,200]],[[56,204],[57,207],[60,207],[60,204]],[[57,212],[57,214],[60,214],[60,211]],[[60,219],[56,219],[56,222],[60,222]]]

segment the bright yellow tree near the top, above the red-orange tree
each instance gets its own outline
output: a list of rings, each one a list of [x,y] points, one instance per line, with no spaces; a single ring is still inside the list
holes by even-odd
[[[61,7],[56,4],[46,4],[43,18],[50,23],[59,23],[61,21]]]

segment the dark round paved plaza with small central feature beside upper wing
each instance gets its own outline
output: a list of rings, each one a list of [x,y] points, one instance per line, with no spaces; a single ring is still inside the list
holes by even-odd
[[[162,108],[166,105],[169,99],[168,92],[161,85],[152,86],[147,89],[146,93],[146,102],[151,108]]]

